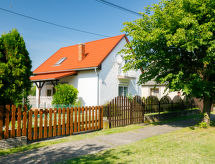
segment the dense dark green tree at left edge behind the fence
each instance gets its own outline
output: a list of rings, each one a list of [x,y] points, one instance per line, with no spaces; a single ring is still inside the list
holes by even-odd
[[[22,102],[31,88],[31,59],[16,29],[0,37],[0,104]]]

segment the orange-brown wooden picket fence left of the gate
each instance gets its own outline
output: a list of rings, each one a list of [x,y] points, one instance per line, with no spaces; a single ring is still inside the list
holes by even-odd
[[[0,107],[0,139],[26,136],[29,141],[103,129],[103,107],[27,110]]]

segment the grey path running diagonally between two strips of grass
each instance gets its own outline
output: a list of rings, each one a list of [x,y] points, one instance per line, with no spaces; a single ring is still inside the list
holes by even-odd
[[[178,121],[165,125],[148,126],[134,131],[103,135],[87,138],[81,141],[60,143],[39,149],[0,156],[2,164],[30,164],[30,163],[55,163],[86,154],[110,149],[119,145],[129,144],[141,139],[168,133],[183,127],[195,125],[193,120]]]

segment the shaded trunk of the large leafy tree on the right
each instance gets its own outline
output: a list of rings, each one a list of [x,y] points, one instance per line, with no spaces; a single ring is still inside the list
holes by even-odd
[[[210,125],[210,113],[211,113],[211,107],[212,107],[213,101],[211,98],[205,97],[203,99],[203,120],[202,122],[207,123],[207,125]]]

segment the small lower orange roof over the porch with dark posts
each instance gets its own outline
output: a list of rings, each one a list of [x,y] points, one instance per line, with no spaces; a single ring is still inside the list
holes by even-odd
[[[47,74],[39,74],[36,76],[31,76],[30,79],[31,81],[40,81],[40,80],[57,80],[60,78],[63,78],[65,76],[70,76],[77,74],[75,71],[70,71],[70,72],[60,72],[60,73],[47,73]]]

